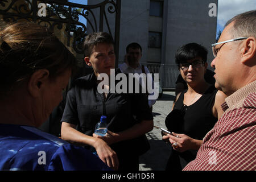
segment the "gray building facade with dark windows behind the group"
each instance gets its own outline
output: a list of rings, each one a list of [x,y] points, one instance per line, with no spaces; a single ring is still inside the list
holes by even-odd
[[[88,0],[88,5],[100,2]],[[216,41],[217,5],[217,0],[122,0],[119,61],[127,44],[138,42],[142,62],[175,64],[177,48],[196,42],[208,49],[210,62],[210,44]],[[109,24],[114,33],[114,20],[110,18]],[[104,31],[108,31],[106,26]]]

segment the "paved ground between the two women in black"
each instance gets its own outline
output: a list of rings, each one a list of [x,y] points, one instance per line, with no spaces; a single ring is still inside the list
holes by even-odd
[[[163,171],[170,156],[171,146],[164,143],[160,127],[166,129],[164,123],[170,113],[175,92],[163,92],[163,96],[153,106],[154,129],[148,132],[150,150],[140,158],[139,171]]]

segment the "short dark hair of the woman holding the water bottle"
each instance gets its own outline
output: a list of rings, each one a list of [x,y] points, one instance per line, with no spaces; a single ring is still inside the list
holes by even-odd
[[[84,54],[90,57],[92,55],[92,49],[99,43],[112,44],[114,46],[114,40],[107,32],[92,32],[86,36],[84,40]]]

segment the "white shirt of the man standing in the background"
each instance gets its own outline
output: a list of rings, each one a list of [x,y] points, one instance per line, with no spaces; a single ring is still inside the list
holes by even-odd
[[[139,63],[139,66],[137,68],[131,68],[129,67],[126,63],[123,63],[123,64],[119,64],[118,65],[118,68],[121,70],[122,73],[138,73],[138,74],[141,74],[142,73],[142,65]],[[148,73],[150,73],[150,71],[147,69],[147,67],[145,67],[145,73],[146,75]],[[154,89],[154,80],[152,79],[152,89]],[[153,93],[150,93],[149,95],[154,95],[154,92]],[[154,105],[156,102],[156,100],[150,100],[148,99],[148,106],[149,107],[152,107],[152,105]]]

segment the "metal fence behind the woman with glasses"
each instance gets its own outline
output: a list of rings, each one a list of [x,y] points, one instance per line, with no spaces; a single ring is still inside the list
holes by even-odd
[[[119,63],[122,64],[122,63]],[[159,73],[159,82],[163,89],[174,89],[175,82],[179,76],[176,64],[141,63],[145,65],[150,73]]]

